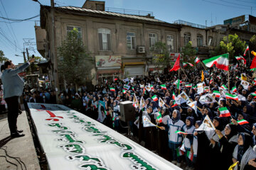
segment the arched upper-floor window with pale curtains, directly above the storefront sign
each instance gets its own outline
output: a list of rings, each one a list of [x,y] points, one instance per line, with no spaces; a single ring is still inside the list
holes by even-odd
[[[110,30],[107,28],[99,28],[99,45],[101,51],[110,51],[111,50],[111,42],[110,42]]]

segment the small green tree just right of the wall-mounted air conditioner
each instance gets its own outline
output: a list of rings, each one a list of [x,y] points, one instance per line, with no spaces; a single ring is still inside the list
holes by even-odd
[[[164,70],[164,68],[169,67],[171,58],[169,57],[169,52],[165,43],[156,42],[152,52],[154,53],[153,62],[156,69]]]

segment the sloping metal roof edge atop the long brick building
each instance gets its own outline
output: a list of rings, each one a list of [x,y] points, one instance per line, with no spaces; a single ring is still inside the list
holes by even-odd
[[[105,16],[117,16],[117,17],[130,18],[130,19],[136,19],[136,20],[142,20],[142,21],[166,23],[164,21],[160,21],[160,20],[155,19],[155,18],[149,18],[149,17],[146,17],[146,16],[134,16],[134,15],[114,13],[114,12],[108,12],[108,11],[98,11],[98,10],[92,10],[92,9],[88,9],[88,8],[78,8],[78,7],[75,7],[75,6],[61,6],[61,7],[55,7],[55,8],[56,9],[61,8],[61,9],[68,9],[68,10],[73,10],[73,11],[82,11],[82,12],[88,12],[88,13],[95,13],[95,14],[100,14],[100,15],[105,15]]]

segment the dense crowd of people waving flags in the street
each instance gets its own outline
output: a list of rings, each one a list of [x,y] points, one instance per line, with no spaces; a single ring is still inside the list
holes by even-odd
[[[63,105],[121,133],[127,132],[124,127],[127,123],[120,120],[119,103],[132,101],[135,109],[134,120],[129,121],[132,135],[144,147],[177,166],[228,169],[238,162],[236,169],[256,169],[256,74],[242,65],[230,66],[229,74],[212,67],[185,69],[181,75],[164,72],[148,77],[117,77],[96,85],[93,91],[86,86],[78,91],[68,86],[58,98]],[[196,85],[201,83],[204,91],[199,94]],[[228,86],[232,91],[228,91]],[[189,100],[182,101],[181,94],[186,94]],[[213,100],[203,100],[206,95]],[[56,103],[55,92],[44,89],[33,94],[25,92],[23,98],[26,102]],[[161,99],[164,104],[159,102]],[[189,103],[195,103],[196,107]],[[227,108],[230,115],[223,116],[222,108]],[[144,116],[152,126],[145,126]],[[212,121],[213,130],[200,130],[206,118]]]

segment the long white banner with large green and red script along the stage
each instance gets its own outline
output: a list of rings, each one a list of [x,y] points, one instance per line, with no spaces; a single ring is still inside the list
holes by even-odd
[[[179,169],[65,106],[28,103],[49,169]]]

